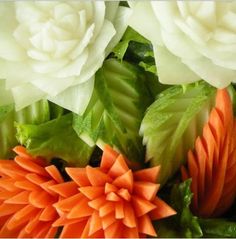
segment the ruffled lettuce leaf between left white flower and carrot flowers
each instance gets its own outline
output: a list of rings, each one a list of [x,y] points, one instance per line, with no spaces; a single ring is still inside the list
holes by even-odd
[[[71,165],[88,164],[93,148],[84,143],[72,128],[72,113],[42,124],[16,123],[18,141],[33,155],[61,158]]]

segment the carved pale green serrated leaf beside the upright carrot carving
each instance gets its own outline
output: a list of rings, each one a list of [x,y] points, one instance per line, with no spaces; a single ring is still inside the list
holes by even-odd
[[[173,86],[161,92],[148,108],[140,134],[146,145],[146,161],[161,165],[164,184],[185,163],[214,104],[215,89],[199,82]]]

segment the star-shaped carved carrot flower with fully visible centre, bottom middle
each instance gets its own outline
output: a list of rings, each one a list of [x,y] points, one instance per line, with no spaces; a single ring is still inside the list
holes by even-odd
[[[156,196],[159,169],[132,172],[109,146],[100,167],[67,168],[78,193],[54,204],[60,214],[54,226],[64,226],[61,238],[156,236],[151,221],[175,214]]]

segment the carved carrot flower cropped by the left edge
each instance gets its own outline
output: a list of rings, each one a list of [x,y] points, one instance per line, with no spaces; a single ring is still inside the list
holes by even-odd
[[[54,237],[58,214],[53,203],[59,196],[50,186],[63,183],[56,167],[45,167],[22,146],[14,160],[0,160],[0,237]]]

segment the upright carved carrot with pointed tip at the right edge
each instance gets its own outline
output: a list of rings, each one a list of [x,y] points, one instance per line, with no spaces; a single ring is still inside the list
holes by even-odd
[[[193,211],[202,217],[224,213],[236,196],[236,120],[226,89],[218,90],[215,108],[188,152],[182,178],[192,178]]]

